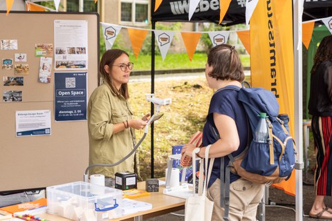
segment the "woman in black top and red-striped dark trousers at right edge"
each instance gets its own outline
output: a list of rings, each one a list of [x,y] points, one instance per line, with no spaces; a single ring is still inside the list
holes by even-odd
[[[332,220],[332,209],[324,203],[332,195],[332,36],[320,42],[313,59],[308,111],[315,140],[315,200],[309,215]]]

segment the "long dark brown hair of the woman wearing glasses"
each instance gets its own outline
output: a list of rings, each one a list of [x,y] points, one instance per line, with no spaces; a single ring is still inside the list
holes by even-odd
[[[104,52],[104,55],[102,55],[102,59],[100,60],[99,71],[102,77],[102,81],[106,81],[109,84],[113,93],[116,95],[122,95],[125,99],[129,99],[128,84],[121,84],[120,90],[118,90],[116,86],[114,86],[109,73],[107,73],[104,68],[104,66],[107,65],[109,66],[109,70],[111,70],[114,61],[116,61],[116,59],[118,59],[118,57],[123,54],[129,57],[128,53],[121,49],[110,49]]]

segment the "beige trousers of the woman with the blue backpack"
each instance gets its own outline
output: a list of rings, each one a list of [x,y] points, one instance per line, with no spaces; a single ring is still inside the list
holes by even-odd
[[[223,220],[224,208],[220,206],[220,180],[217,179],[208,189],[208,198],[214,201],[212,220]],[[264,185],[254,184],[240,178],[230,184],[230,221],[253,221],[257,206],[264,195]]]

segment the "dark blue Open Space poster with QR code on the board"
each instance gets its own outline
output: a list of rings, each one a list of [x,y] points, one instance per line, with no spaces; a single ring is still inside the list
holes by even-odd
[[[54,73],[55,121],[86,120],[87,73]]]

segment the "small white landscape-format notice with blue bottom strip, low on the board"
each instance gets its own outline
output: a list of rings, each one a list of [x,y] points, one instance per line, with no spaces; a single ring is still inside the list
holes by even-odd
[[[50,135],[50,110],[16,111],[16,136]]]

